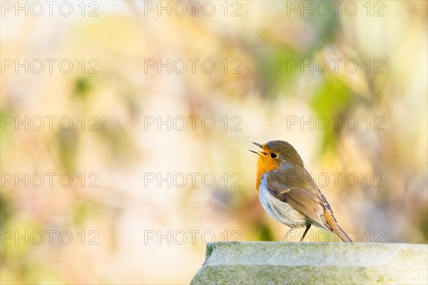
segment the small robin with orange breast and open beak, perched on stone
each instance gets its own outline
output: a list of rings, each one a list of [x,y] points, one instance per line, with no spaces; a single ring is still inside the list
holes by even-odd
[[[260,202],[269,216],[291,227],[280,241],[284,241],[297,226],[306,226],[302,241],[313,224],[334,231],[342,241],[352,242],[337,224],[327,199],[291,144],[287,141],[253,144],[262,149],[252,151],[259,156],[255,189]]]

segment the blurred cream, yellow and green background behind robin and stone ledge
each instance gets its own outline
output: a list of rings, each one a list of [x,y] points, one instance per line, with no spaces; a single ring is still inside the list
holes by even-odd
[[[2,284],[185,284],[207,242],[278,241],[252,141],[358,242],[427,243],[426,1],[48,2],[1,1]]]

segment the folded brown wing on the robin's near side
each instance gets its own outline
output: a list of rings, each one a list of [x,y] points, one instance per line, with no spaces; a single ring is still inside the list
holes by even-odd
[[[277,179],[269,179],[267,177],[267,189],[272,196],[286,202],[292,209],[299,211],[301,214],[307,216],[310,220],[328,230],[332,230],[324,218],[326,207],[324,201],[320,196],[315,194],[312,189],[303,189],[298,186],[287,186]]]

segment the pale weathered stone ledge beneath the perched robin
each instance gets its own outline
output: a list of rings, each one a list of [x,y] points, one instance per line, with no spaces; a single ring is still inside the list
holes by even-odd
[[[190,284],[428,284],[428,245],[217,242]]]

